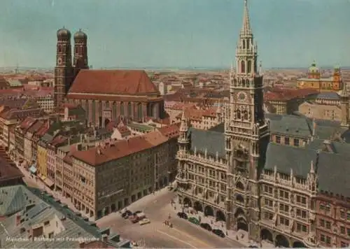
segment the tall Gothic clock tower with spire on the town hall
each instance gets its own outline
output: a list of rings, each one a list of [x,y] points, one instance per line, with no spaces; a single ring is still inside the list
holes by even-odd
[[[236,69],[230,71],[230,104],[225,108],[225,152],[228,160],[226,205],[229,228],[248,230],[259,238],[258,180],[265,163],[269,125],[263,112],[261,64],[254,43],[248,3],[236,50]]]

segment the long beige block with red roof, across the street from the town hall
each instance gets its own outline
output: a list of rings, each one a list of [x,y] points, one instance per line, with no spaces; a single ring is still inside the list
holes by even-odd
[[[174,140],[151,131],[73,152],[73,203],[82,212],[102,218],[167,185],[169,175],[174,175],[174,160],[169,159],[174,145],[169,143]]]

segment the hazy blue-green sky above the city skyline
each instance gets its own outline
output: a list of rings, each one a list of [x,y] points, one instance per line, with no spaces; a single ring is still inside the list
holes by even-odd
[[[350,66],[350,0],[250,0],[265,67]],[[56,31],[83,29],[99,67],[229,67],[243,0],[1,0],[0,66],[55,65]]]

